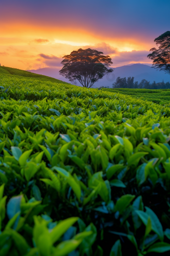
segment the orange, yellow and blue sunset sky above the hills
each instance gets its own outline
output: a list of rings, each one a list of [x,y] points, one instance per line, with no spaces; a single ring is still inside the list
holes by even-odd
[[[59,67],[79,48],[100,50],[112,67],[151,63],[154,39],[170,30],[169,0],[5,0],[0,3],[0,64]]]

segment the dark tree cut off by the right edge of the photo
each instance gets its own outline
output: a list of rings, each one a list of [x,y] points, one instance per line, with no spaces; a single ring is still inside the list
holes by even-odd
[[[153,68],[164,70],[170,75],[170,31],[166,31],[155,38],[154,42],[158,49],[151,48],[152,53],[148,54],[147,57],[153,60]]]

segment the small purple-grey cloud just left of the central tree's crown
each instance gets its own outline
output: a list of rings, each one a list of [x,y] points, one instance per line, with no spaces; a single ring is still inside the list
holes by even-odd
[[[38,57],[36,60],[41,61],[43,64],[45,64],[48,67],[61,67],[61,61],[62,59],[54,56],[54,55],[46,55],[43,53],[38,54]]]

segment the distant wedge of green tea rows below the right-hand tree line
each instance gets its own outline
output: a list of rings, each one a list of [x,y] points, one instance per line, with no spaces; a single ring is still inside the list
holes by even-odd
[[[102,89],[103,91],[118,92],[124,95],[130,95],[132,97],[141,98],[144,100],[152,101],[161,105],[168,104],[170,101],[170,90],[169,89]]]

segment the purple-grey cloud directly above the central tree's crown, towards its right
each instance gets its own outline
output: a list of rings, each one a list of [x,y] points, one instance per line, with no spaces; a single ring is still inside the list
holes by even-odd
[[[113,48],[109,44],[106,44],[104,42],[98,43],[98,44],[95,44],[92,46],[88,45],[88,46],[82,47],[82,49],[87,49],[87,48],[95,49],[99,52],[103,52],[104,55],[111,55],[111,54],[115,54],[117,52],[116,48]]]

